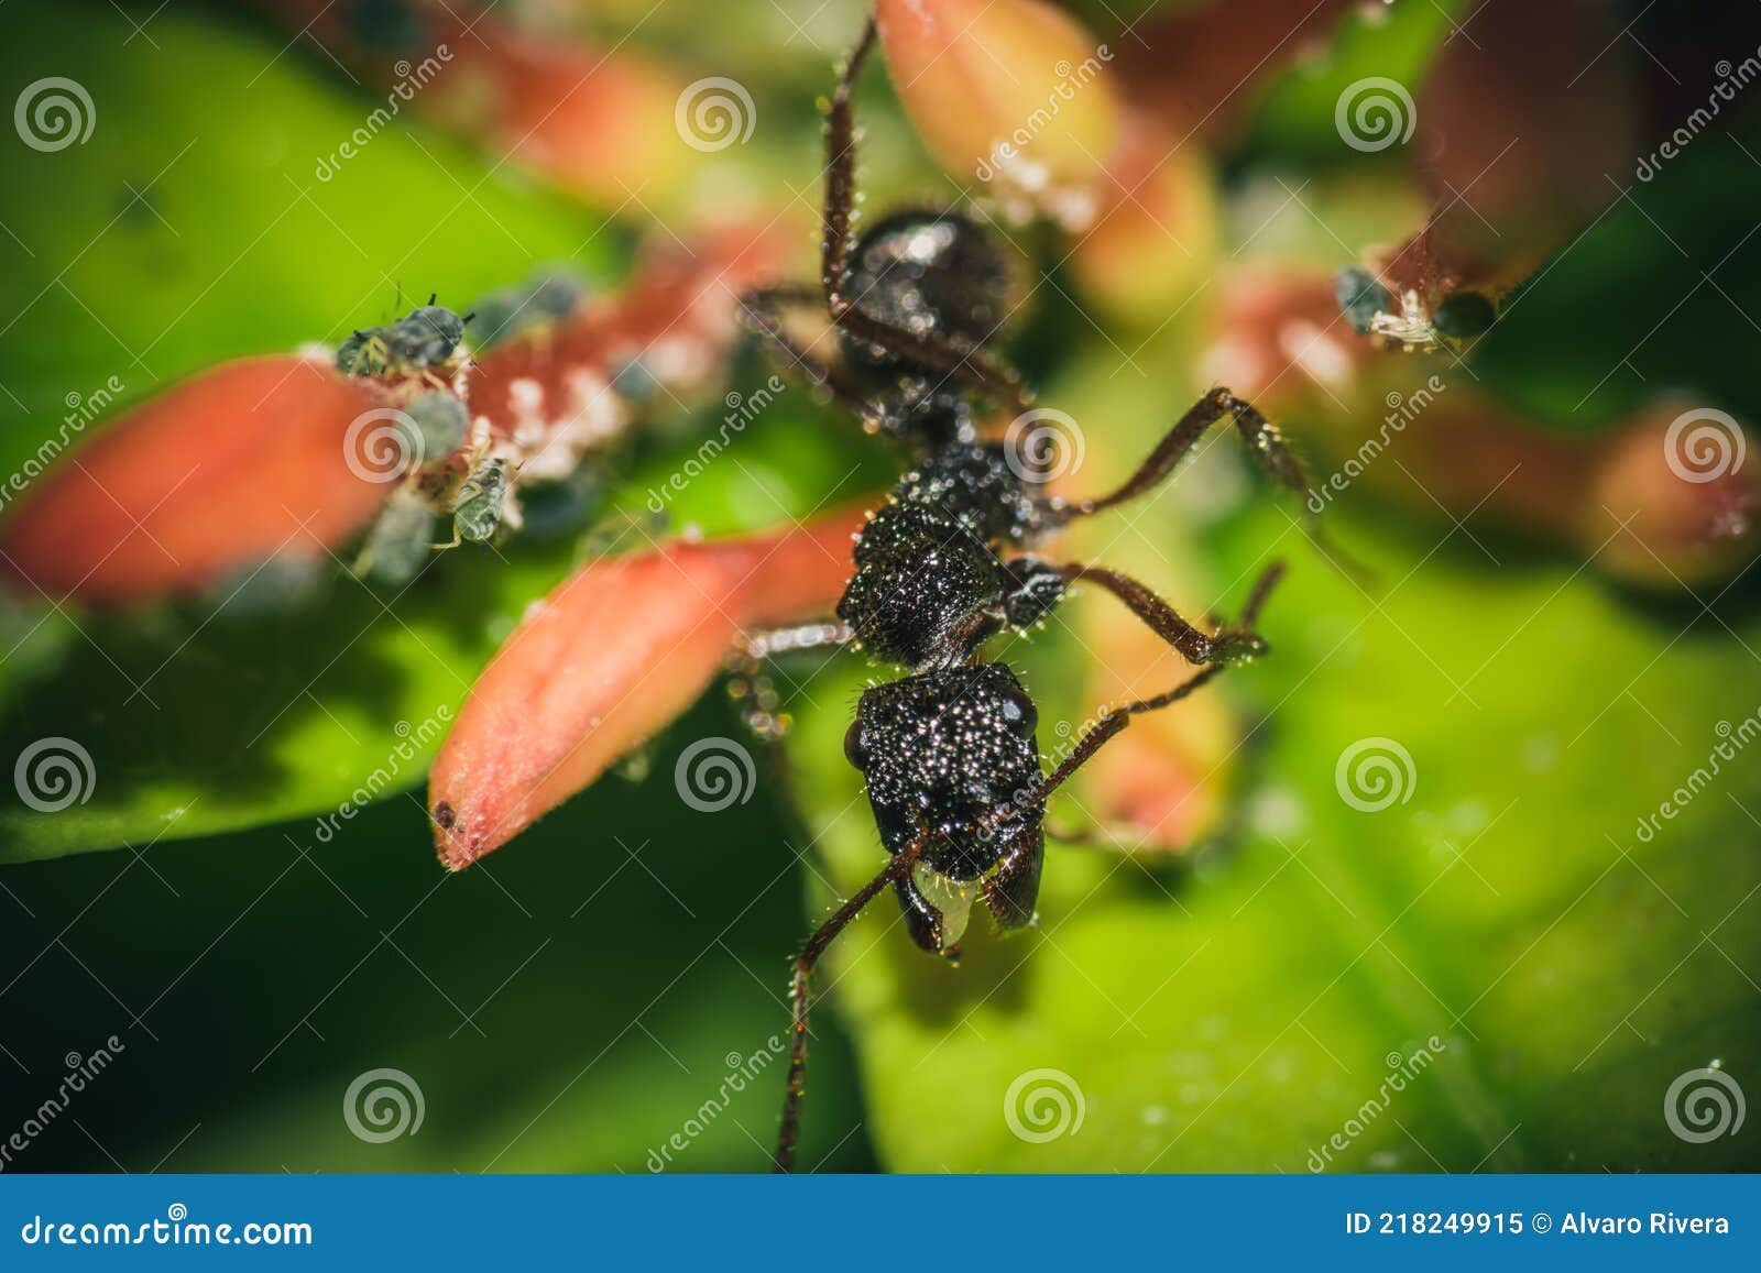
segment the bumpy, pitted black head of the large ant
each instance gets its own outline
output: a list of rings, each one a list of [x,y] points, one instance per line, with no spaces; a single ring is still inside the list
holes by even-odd
[[[967,664],[870,687],[844,738],[868,780],[868,805],[888,852],[928,826],[923,863],[974,880],[998,859],[1000,828],[1037,826],[1044,812],[1039,713],[1006,664]],[[998,808],[1013,806],[1004,822]]]

